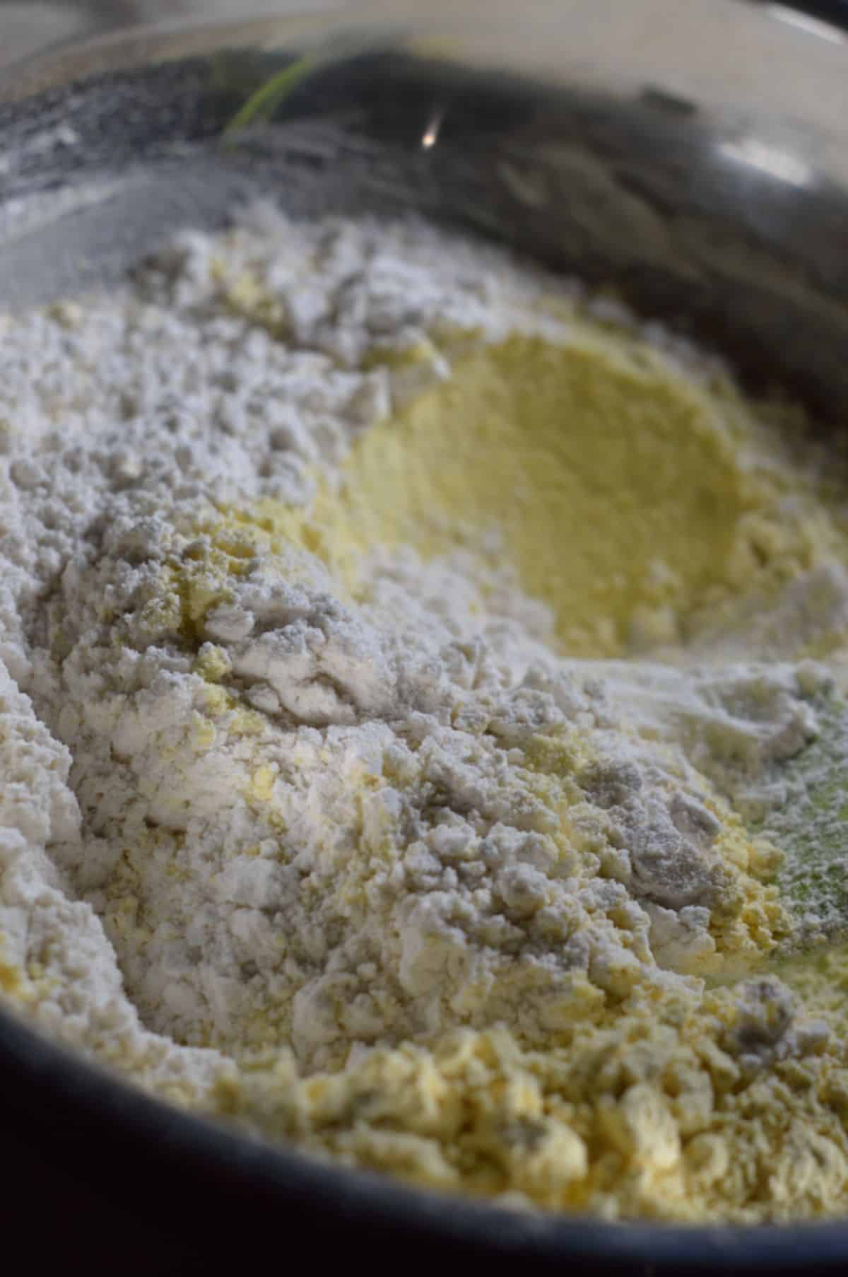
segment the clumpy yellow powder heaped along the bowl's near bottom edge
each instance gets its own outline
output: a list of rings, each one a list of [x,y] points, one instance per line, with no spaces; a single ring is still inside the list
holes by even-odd
[[[347,1163],[442,1191],[510,1193],[607,1218],[753,1223],[833,1216],[848,1186],[848,1069],[835,1052],[746,1077],[737,1013],[650,995],[585,1018],[544,1051],[507,1028],[375,1050],[337,1074],[245,1070],[218,1094]]]

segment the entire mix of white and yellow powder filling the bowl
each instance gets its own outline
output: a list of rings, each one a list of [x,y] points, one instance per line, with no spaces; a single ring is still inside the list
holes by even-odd
[[[848,535],[792,410],[264,206],[3,323],[8,1000],[418,1185],[844,1212]]]

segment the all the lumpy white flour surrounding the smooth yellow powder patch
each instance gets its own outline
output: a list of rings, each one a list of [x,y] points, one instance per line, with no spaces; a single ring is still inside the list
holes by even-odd
[[[780,936],[773,850],[725,799],[785,802],[824,667],[568,663],[458,553],[374,554],[351,601],[308,549],[212,531],[212,503],[305,501],[450,374],[391,351],[557,338],[557,291],[419,226],[259,209],[5,322],[0,971],[45,1028],[202,1103],[258,1048],[312,1071],[456,1025],[544,1043],[587,987],[695,996]],[[812,1050],[780,1014],[732,1050]]]

